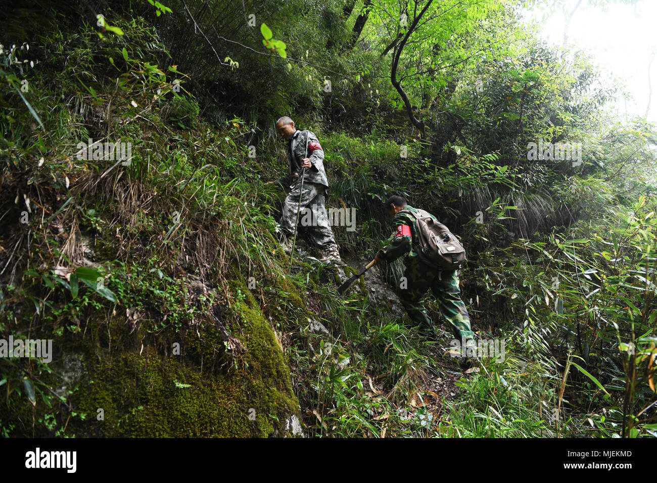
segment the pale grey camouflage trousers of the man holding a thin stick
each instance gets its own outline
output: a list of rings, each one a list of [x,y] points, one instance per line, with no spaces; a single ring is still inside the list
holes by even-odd
[[[299,227],[306,229],[319,248],[326,249],[336,244],[333,231],[328,224],[328,214],[324,206],[324,193],[326,187],[318,183],[304,183],[304,192],[301,193],[301,183],[296,183],[283,202],[283,216],[281,217],[281,231],[286,237],[294,235],[296,212],[299,204]]]

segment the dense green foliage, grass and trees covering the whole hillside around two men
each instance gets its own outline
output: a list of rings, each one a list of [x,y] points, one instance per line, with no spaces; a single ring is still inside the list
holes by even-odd
[[[657,436],[657,129],[516,3],[3,13],[0,336],[54,352],[0,359],[1,434]],[[264,184],[283,115],[321,140],[328,206],[357,208],[344,258],[374,254],[395,193],[462,237],[503,360],[464,373],[365,283],[338,298],[336,268],[288,269]],[[81,158],[88,139],[132,157]]]

